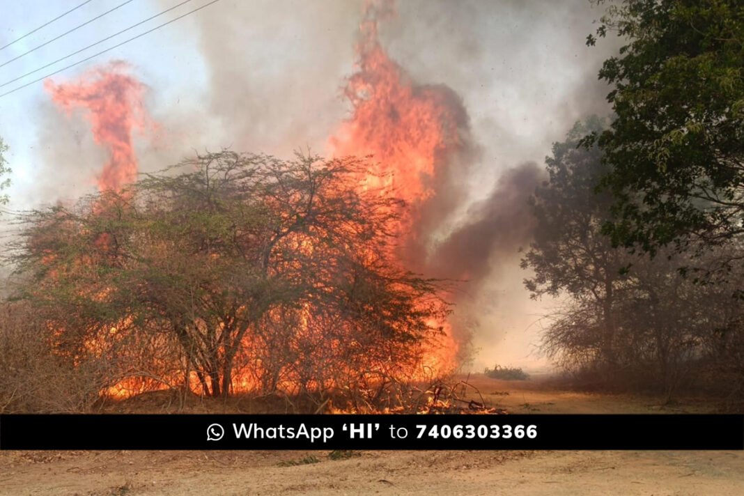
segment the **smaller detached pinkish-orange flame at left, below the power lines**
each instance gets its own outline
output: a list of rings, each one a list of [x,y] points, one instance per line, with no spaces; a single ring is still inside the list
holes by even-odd
[[[109,150],[109,161],[97,178],[101,191],[119,191],[137,178],[132,131],[144,129],[148,117],[141,100],[144,86],[126,74],[126,68],[124,62],[112,62],[88,71],[77,82],[44,83],[54,103],[66,112],[87,110],[96,143]]]

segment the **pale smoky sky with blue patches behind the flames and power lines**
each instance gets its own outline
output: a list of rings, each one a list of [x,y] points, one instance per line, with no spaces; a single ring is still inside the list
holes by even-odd
[[[0,64],[124,0],[92,0],[0,51]],[[147,19],[182,0],[132,0],[49,45],[0,67],[0,85]],[[0,0],[0,46],[82,0]],[[208,3],[192,0],[42,71],[0,86],[0,93],[154,28]],[[586,0],[399,0],[383,23],[389,54],[418,83],[446,84],[463,98],[478,164],[462,178],[472,202],[501,175],[526,162],[540,167],[551,144],[576,120],[607,113],[609,88],[597,80],[617,45],[588,48],[602,12]],[[141,170],[159,170],[193,150],[231,147],[288,156],[310,147],[327,152],[328,137],[349,115],[344,78],[354,69],[362,0],[219,0],[199,12],[51,76],[56,83],[112,60],[124,60],[146,86],[144,103],[157,137],[137,135]],[[10,207],[71,201],[96,189],[106,154],[79,112],[60,112],[43,82],[0,97],[0,136],[10,146]],[[464,212],[467,205],[464,205]],[[540,315],[522,286],[519,254],[502,257],[470,306],[483,318],[473,367],[538,367]]]

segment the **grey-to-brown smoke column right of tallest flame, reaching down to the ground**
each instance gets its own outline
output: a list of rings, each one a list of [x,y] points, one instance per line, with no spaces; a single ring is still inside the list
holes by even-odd
[[[422,223],[433,244],[411,260],[465,280],[452,295],[452,325],[480,348],[481,367],[536,363],[533,324],[550,302],[529,300],[522,286],[519,248],[534,228],[527,199],[551,144],[577,120],[609,112],[597,71],[621,40],[585,44],[601,15],[583,0],[411,0],[380,26],[391,58],[413,80],[453,88],[468,114],[469,152],[440,164],[441,193]]]

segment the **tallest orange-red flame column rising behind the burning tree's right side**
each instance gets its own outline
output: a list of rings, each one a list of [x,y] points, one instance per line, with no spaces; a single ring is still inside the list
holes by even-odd
[[[405,247],[422,245],[418,238],[426,233],[421,232],[418,222],[420,209],[436,196],[440,164],[464,146],[461,129],[467,117],[449,88],[417,85],[385,52],[377,25],[380,17],[391,14],[390,6],[366,6],[356,47],[357,69],[344,88],[353,113],[330,145],[336,155],[371,155],[375,165],[363,187],[407,202],[408,210],[399,226]],[[406,260],[402,261],[406,265]],[[426,367],[441,371],[455,365],[458,342],[449,323],[443,323],[441,342],[430,348]]]

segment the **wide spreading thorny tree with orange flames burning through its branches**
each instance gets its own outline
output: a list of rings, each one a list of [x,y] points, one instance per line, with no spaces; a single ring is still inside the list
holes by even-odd
[[[106,357],[113,393],[380,393],[420,372],[449,308],[394,258],[403,202],[360,190],[365,161],[179,166],[25,218],[19,296],[57,353]]]

